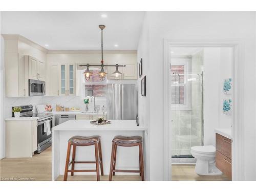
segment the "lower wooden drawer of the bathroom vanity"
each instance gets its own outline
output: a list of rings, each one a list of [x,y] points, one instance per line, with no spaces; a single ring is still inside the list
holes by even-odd
[[[232,178],[231,159],[216,151],[216,166],[230,179]]]

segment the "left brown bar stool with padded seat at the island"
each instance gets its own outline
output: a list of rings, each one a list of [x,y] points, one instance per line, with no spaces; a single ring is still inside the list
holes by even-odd
[[[70,160],[70,149],[71,145],[73,145],[72,150],[72,160]],[[94,145],[95,147],[95,161],[75,161],[75,154],[76,154],[76,146],[90,146]],[[95,163],[96,169],[74,169],[75,163]],[[68,141],[68,150],[67,150],[67,159],[66,159],[66,167],[65,167],[65,174],[64,174],[64,181],[68,179],[68,172],[71,172],[71,176],[74,176],[74,172],[96,172],[97,173],[97,181],[100,180],[99,176],[99,164],[100,164],[100,171],[101,175],[103,176],[103,164],[102,164],[102,154],[101,154],[101,144],[100,144],[100,136],[90,136],[90,137],[83,137],[83,136],[73,136]],[[71,169],[69,170],[69,166]]]

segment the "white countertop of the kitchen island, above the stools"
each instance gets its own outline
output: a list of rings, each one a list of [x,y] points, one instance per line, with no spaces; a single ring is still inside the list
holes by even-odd
[[[111,120],[111,124],[95,125],[91,120],[69,120],[53,127],[53,131],[145,131],[136,120]]]

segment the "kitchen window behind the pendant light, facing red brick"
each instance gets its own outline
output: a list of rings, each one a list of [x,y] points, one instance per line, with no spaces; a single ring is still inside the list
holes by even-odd
[[[93,75],[90,77],[88,81],[84,79],[84,76],[82,76],[84,96],[106,97],[106,78],[103,81],[99,79],[98,73],[100,72],[100,70],[98,69],[90,71],[93,73]]]

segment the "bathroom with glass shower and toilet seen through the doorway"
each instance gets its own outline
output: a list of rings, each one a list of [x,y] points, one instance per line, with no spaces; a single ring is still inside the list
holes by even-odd
[[[233,87],[233,48],[172,47],[170,58],[172,180],[231,180],[216,167],[215,147],[218,130],[232,136],[232,88],[225,91],[224,81]],[[211,156],[207,165],[196,164],[195,146]]]

